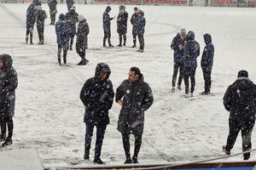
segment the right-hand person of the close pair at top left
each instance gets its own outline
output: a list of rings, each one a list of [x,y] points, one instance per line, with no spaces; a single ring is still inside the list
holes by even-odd
[[[37,14],[37,29],[38,29],[38,45],[44,44],[44,20],[47,19],[47,14],[41,6],[38,6]]]

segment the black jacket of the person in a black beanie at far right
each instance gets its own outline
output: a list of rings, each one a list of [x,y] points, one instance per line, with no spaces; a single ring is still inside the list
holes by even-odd
[[[230,111],[230,118],[255,119],[256,85],[247,77],[238,77],[224,94],[224,107]]]

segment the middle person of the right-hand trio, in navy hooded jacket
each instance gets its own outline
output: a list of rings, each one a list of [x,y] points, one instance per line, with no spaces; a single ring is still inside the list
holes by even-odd
[[[200,54],[199,43],[195,41],[194,31],[187,34],[187,42],[184,48],[183,57],[183,79],[185,84],[185,97],[193,96],[195,90],[195,70],[197,67],[197,57]],[[189,95],[189,78],[190,78],[190,95]]]

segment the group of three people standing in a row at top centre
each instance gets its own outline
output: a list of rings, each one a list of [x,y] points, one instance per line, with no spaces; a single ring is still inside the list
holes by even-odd
[[[103,13],[102,20],[103,20],[103,47],[106,46],[106,40],[108,39],[108,47],[113,48],[113,45],[110,41],[111,38],[111,20],[115,17],[110,17],[109,12],[111,11],[111,7],[108,6]],[[127,32],[127,21],[128,21],[128,13],[125,11],[125,5],[119,6],[119,14],[117,17],[117,32],[119,33],[119,44],[118,47],[126,46],[126,32]],[[139,8],[134,8],[134,14],[131,16],[131,25],[132,25],[132,37],[133,37],[133,46],[132,48],[136,48],[136,37],[140,42],[140,48],[137,50],[140,53],[144,51],[144,31],[146,20],[144,17],[143,10]]]

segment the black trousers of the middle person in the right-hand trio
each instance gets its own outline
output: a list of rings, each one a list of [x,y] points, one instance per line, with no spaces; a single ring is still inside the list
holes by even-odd
[[[195,90],[195,70],[196,68],[184,68],[183,79],[185,84],[185,94],[189,94],[189,78],[191,83],[190,93],[194,93]]]

